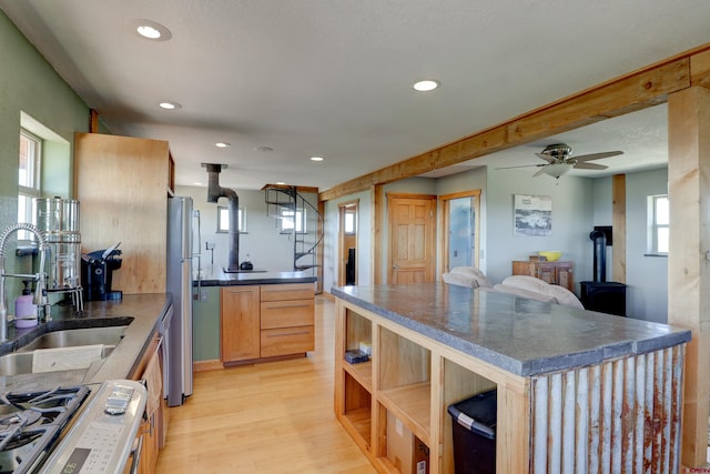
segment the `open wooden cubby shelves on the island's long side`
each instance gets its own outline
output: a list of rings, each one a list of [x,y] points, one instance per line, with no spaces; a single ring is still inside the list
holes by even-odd
[[[420,444],[429,474],[454,474],[448,405],[496,382],[415,332],[342,300],[337,304],[335,412],[343,426],[381,473],[416,472]],[[348,363],[345,351],[361,342],[372,344],[371,361]]]

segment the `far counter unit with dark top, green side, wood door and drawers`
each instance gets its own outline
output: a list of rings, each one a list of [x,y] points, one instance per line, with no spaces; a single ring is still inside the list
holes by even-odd
[[[195,370],[303,357],[315,347],[315,281],[307,272],[206,271],[194,282]]]

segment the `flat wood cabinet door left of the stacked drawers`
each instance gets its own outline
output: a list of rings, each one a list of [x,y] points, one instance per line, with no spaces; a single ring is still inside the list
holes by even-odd
[[[221,297],[222,362],[258,359],[261,353],[258,285],[224,288]]]

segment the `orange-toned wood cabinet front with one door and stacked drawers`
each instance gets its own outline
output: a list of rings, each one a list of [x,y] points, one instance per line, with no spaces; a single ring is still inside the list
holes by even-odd
[[[315,349],[312,283],[222,289],[224,365],[302,356]]]

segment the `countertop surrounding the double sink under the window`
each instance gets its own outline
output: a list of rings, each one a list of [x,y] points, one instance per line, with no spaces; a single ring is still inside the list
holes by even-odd
[[[36,327],[18,330],[10,325],[9,341],[0,344],[0,355],[13,352],[47,332],[129,323],[123,339],[111,354],[92,364],[89,370],[0,376],[0,390],[47,389],[131,379],[171,302],[170,294],[165,293],[124,294],[121,301],[84,302],[84,312],[81,314],[73,311],[72,306],[52,305],[52,321]]]

